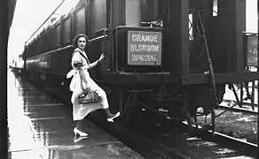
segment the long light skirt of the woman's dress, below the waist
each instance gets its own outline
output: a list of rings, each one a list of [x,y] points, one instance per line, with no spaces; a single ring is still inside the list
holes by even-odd
[[[73,103],[73,120],[82,120],[86,117],[90,112],[99,109],[107,109],[109,108],[109,104],[106,97],[106,92],[98,86],[98,84],[90,78],[89,72],[84,71],[87,74],[87,83],[84,83],[79,75],[79,72],[76,72],[74,78],[71,81],[73,85],[73,94],[71,96],[71,102]],[[98,103],[87,103],[87,104],[79,104],[78,96],[82,94],[82,84],[85,87],[90,87],[91,90],[94,90],[100,96],[100,102]],[[71,86],[70,86],[71,87]],[[70,88],[71,89],[71,88]]]

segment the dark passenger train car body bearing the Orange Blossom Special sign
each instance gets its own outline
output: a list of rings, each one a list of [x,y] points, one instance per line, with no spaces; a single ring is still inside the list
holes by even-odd
[[[222,96],[224,84],[258,76],[246,71],[243,60],[246,19],[240,15],[245,6],[242,0],[81,0],[27,42],[25,67],[31,78],[67,89],[60,83],[71,69],[73,38],[83,33],[90,37],[86,53],[91,62],[106,54],[90,76],[106,90],[109,102],[120,105],[114,110],[120,109],[122,117],[144,102],[175,114],[188,109],[187,99],[214,108],[212,82]],[[214,68],[210,73],[203,34]]]

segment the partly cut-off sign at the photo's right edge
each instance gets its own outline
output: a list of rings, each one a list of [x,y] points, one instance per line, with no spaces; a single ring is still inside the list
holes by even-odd
[[[257,36],[248,35],[247,36],[247,66],[257,66],[258,65],[258,49],[257,46]]]

